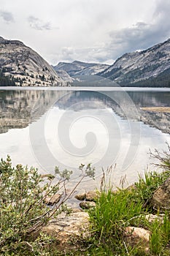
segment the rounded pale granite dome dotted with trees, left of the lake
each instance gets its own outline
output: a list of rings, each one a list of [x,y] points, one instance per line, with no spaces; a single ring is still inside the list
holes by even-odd
[[[23,42],[0,37],[0,48],[1,86],[10,85],[9,78],[16,86],[67,85],[45,59]]]

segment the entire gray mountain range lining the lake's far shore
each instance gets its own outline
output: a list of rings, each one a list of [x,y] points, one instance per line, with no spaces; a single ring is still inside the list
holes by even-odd
[[[97,80],[94,76],[98,76]],[[147,50],[125,53],[112,65],[73,61],[50,66],[23,42],[0,37],[0,86],[96,86],[96,83],[170,87],[170,39]]]

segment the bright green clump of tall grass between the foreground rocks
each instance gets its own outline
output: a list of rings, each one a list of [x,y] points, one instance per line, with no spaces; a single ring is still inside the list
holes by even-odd
[[[100,255],[101,248],[109,255],[123,255],[123,230],[140,214],[144,214],[142,202],[136,202],[133,192],[119,189],[115,193],[111,188],[101,191],[96,208],[90,211],[96,255]]]

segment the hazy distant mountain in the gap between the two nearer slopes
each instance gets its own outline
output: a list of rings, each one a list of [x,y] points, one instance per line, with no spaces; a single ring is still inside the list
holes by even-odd
[[[102,72],[107,69],[107,64],[85,63],[82,61],[73,61],[72,63],[59,62],[58,65],[53,68],[55,71],[64,70],[71,77],[74,75],[96,75],[98,72]]]

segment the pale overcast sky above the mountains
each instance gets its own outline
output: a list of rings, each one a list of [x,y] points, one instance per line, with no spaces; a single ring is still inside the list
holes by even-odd
[[[50,64],[112,64],[168,39],[169,24],[169,0],[0,0],[0,36],[19,39]]]

